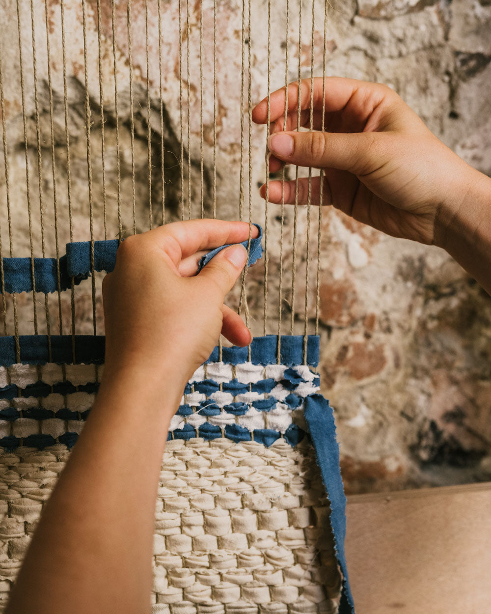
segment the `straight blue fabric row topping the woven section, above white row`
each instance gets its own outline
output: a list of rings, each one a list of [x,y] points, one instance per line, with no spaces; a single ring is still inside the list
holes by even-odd
[[[74,340],[75,353],[72,352]],[[293,367],[302,365],[303,335],[282,335],[280,338],[280,363]],[[102,335],[21,335],[19,337],[20,362],[25,365],[44,365],[55,362],[59,365],[94,364],[104,362],[106,338]],[[255,337],[250,344],[251,362],[254,365],[275,365],[277,363],[278,336]],[[238,365],[247,362],[246,348],[223,348],[222,362]],[[0,336],[0,366],[10,367],[15,362],[15,337]],[[218,362],[218,348],[212,351],[206,362]],[[319,364],[319,336],[307,338],[306,364],[315,367]],[[264,386],[268,381],[264,380]]]

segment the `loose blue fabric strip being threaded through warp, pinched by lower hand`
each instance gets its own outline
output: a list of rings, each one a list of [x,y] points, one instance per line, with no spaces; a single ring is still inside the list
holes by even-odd
[[[253,265],[263,254],[261,238],[263,229],[259,224],[254,224],[259,230],[259,236],[250,241],[248,265]],[[243,241],[242,245],[247,247],[248,241]],[[109,241],[94,242],[94,268],[96,271],[114,271],[116,263],[116,252],[119,246],[117,239]],[[217,247],[201,260],[199,260],[198,273],[203,266],[222,251],[224,247]],[[34,282],[36,292],[49,293],[58,290],[58,269],[56,258],[33,258],[34,260]],[[4,258],[4,284],[5,292],[32,292],[33,290],[33,261],[31,258]],[[60,258],[60,284],[61,291],[71,287],[72,278],[75,285],[80,284],[84,279],[88,279],[91,272],[90,265],[90,242],[77,241],[66,244],[66,255]]]

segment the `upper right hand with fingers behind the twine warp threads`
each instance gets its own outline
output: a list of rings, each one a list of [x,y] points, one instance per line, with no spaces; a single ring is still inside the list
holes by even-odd
[[[298,85],[270,97],[270,170],[282,162],[324,169],[323,203],[388,235],[443,244],[471,185],[483,175],[439,141],[409,107],[385,85],[354,79],[314,79],[314,132],[298,132]],[[301,84],[301,126],[310,126],[311,81]],[[267,101],[253,110],[266,123]],[[284,132],[285,131],[285,132]],[[308,179],[300,179],[298,203],[307,203]],[[265,186],[261,188],[265,198]],[[319,177],[312,179],[312,204],[319,204]],[[269,201],[282,202],[282,183],[269,184]],[[284,202],[295,202],[295,181],[286,181]]]

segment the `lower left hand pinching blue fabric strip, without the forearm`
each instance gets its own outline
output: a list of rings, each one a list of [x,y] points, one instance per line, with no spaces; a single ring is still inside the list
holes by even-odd
[[[252,236],[258,230],[252,227]],[[105,373],[130,368],[160,383],[172,365],[182,386],[211,354],[220,332],[245,346],[251,335],[223,305],[244,268],[247,252],[231,246],[196,275],[209,249],[249,238],[249,224],[221,220],[176,222],[130,236],[104,278]]]

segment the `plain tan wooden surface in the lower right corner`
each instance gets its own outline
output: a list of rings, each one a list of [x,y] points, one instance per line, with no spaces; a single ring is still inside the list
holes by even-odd
[[[491,612],[491,483],[352,495],[357,614]]]

